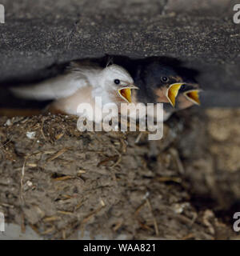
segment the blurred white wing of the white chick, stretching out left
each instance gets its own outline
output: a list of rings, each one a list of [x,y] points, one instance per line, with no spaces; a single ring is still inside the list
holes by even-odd
[[[10,90],[19,98],[50,100],[66,98],[87,85],[88,81],[84,75],[70,73],[30,86],[12,87]]]

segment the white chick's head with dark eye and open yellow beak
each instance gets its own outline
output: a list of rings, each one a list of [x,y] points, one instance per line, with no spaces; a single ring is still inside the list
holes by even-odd
[[[134,86],[134,80],[130,74],[118,65],[107,66],[102,70],[102,87],[106,90],[114,102],[132,102],[131,90],[138,89]]]

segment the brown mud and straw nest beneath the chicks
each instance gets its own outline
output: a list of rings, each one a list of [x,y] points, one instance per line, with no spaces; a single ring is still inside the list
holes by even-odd
[[[0,210],[48,239],[234,238],[238,152],[219,156],[226,141],[238,148],[233,126],[214,131],[214,111],[182,111],[162,140],[138,143],[138,132],[81,133],[72,116],[1,117]]]

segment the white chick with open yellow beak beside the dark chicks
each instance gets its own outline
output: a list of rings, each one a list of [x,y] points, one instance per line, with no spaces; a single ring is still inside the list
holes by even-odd
[[[95,97],[106,103],[132,102],[131,90],[138,89],[130,74],[118,65],[102,68],[92,62],[70,62],[66,72],[57,78],[50,78],[31,86],[11,88],[20,98],[50,100],[47,108],[53,113],[78,114],[78,105],[89,103],[95,108]],[[97,106],[98,107],[98,106]],[[119,109],[120,110],[120,109]],[[79,115],[80,116],[80,115]]]

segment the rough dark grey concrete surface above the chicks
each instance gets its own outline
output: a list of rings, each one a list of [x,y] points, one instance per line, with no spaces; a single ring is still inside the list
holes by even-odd
[[[171,56],[201,72],[204,106],[239,106],[237,1],[7,1],[0,82],[44,77],[75,58]]]

